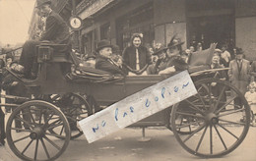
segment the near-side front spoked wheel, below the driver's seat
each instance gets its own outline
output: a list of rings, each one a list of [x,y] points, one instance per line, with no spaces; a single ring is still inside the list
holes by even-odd
[[[15,122],[20,122],[22,127],[15,127]],[[58,134],[51,134],[50,130]],[[55,160],[68,146],[70,127],[56,106],[33,100],[13,111],[6,136],[11,150],[23,160]]]

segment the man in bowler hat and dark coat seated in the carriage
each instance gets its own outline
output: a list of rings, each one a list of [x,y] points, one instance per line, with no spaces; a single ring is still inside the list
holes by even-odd
[[[112,57],[112,48],[108,40],[101,40],[97,43],[96,48],[96,69],[109,72],[111,74],[124,75],[120,64],[114,62]]]

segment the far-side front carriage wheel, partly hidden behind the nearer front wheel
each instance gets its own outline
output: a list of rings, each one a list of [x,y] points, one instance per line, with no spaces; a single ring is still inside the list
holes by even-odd
[[[59,107],[68,119],[71,129],[71,139],[77,138],[83,134],[78,122],[92,115],[92,109],[88,101],[76,93],[66,93],[64,95],[52,95],[51,101]],[[56,134],[53,130],[52,134]]]

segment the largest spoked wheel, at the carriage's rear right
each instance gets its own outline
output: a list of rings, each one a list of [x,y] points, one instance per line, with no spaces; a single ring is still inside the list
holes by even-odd
[[[195,86],[198,94],[172,107],[173,134],[191,154],[220,157],[234,150],[248,133],[250,107],[227,81],[198,80]],[[230,96],[226,96],[226,91],[230,91]],[[236,99],[241,105],[234,104]],[[183,118],[190,121],[181,124]]]

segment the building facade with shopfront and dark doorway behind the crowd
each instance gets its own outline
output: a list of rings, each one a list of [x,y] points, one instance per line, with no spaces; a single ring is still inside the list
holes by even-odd
[[[255,0],[82,0],[76,12],[84,23],[79,43],[85,53],[101,39],[123,49],[132,33],[141,32],[146,45],[167,44],[177,34],[183,48],[218,42],[218,47],[241,47],[247,59],[256,59]]]

